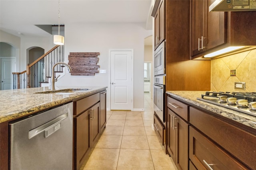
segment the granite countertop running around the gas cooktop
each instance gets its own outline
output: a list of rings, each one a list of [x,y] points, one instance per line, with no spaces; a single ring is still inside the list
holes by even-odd
[[[198,107],[202,107],[203,109],[207,109],[209,111],[212,111],[213,113],[222,115],[228,119],[256,129],[256,116],[248,115],[239,111],[234,111],[232,109],[228,109],[196,99],[200,98],[201,94],[205,94],[205,91],[167,91],[166,93],[178,99],[184,100],[188,103],[191,103]]]

